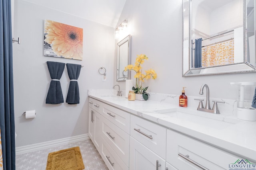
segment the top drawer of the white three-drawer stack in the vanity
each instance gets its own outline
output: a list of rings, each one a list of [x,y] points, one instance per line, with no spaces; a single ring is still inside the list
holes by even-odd
[[[103,104],[102,109],[102,115],[106,117],[106,119],[114,123],[126,133],[130,134],[130,113],[108,104]]]

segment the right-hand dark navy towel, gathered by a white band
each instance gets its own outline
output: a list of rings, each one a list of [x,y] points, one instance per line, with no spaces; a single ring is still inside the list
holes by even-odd
[[[77,79],[80,74],[81,65],[67,63],[68,76],[70,78],[70,84],[68,88],[68,95],[66,102],[68,104],[79,104],[79,87]]]

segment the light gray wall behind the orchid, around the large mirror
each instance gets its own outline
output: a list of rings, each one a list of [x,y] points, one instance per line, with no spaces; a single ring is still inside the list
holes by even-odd
[[[256,81],[256,73],[182,77],[182,0],[127,0],[118,23],[124,19],[132,35],[132,64],[136,55],[146,54],[143,68],[158,74],[156,80],[146,80],[149,92],[181,94],[185,86],[187,95],[200,96],[206,83],[210,98],[236,100],[236,86],[230,82]],[[124,82],[120,85],[125,88]]]

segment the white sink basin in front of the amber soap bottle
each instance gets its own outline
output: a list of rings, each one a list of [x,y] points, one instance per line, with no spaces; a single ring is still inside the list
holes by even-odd
[[[187,123],[195,123],[204,127],[210,127],[214,129],[224,129],[241,122],[241,120],[227,117],[225,115],[207,113],[202,111],[194,111],[182,108],[156,110],[156,113],[164,114],[167,117],[174,117]]]

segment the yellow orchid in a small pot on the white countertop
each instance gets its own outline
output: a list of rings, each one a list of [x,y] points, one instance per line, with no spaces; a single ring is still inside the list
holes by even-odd
[[[134,66],[132,64],[129,64],[124,68],[124,71],[127,70],[134,70],[136,72],[134,78],[136,78],[136,85],[135,87],[132,87],[132,90],[134,90],[136,94],[136,100],[148,100],[149,94],[146,92],[148,87],[143,87],[142,84],[144,80],[148,80],[150,78],[156,79],[157,74],[155,70],[150,68],[149,70],[145,71],[145,74],[142,74],[142,64],[144,63],[144,60],[148,60],[148,57],[144,54],[137,55]]]

